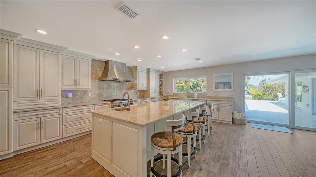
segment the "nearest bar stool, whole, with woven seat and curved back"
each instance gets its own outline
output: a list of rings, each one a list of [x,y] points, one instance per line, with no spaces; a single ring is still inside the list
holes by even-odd
[[[151,159],[150,159],[150,177],[182,177],[182,141],[183,138],[179,134],[175,134],[183,128],[185,123],[184,115],[179,120],[167,120],[166,129],[164,132],[158,132],[151,136]],[[154,159],[155,152],[163,154],[163,156]],[[172,157],[173,154],[179,152],[179,160]],[[167,155],[167,176],[159,174],[154,169],[154,164],[160,160],[165,162],[165,155]],[[171,175],[171,161],[179,166],[179,170]],[[164,165],[163,165],[164,166]],[[164,167],[163,167],[164,168]]]

